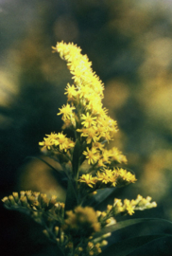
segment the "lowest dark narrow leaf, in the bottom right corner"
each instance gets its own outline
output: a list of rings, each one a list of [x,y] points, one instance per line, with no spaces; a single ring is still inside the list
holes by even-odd
[[[133,252],[135,249],[145,246],[147,243],[150,243],[151,241],[157,240],[158,238],[162,238],[164,236],[165,236],[164,234],[157,234],[157,235],[145,235],[145,236],[132,237],[129,239],[125,239],[105,249],[104,254],[114,255],[114,256],[131,255],[130,253]]]

